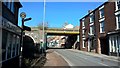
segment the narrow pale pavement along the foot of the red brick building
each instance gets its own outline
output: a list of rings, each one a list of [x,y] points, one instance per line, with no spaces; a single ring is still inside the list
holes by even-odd
[[[86,52],[86,51],[81,51],[81,50],[76,50],[76,49],[68,49],[68,50],[86,54],[86,55],[90,55],[90,56],[94,56],[94,57],[111,60],[111,61],[120,62],[120,57],[117,57],[117,56],[108,56],[108,55],[104,55],[104,54],[97,54],[97,53],[93,53],[93,52]]]

